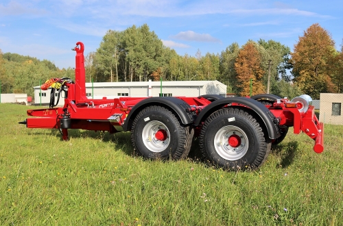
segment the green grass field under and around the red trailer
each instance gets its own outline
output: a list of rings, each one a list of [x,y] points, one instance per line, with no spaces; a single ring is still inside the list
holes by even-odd
[[[30,107],[36,108],[36,107]],[[196,159],[149,161],[130,134],[19,125],[27,106],[0,104],[0,225],[343,225],[343,126],[324,152],[292,134],[257,171]]]

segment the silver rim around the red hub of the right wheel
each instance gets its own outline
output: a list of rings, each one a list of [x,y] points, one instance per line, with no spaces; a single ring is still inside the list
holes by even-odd
[[[238,147],[230,146],[228,139],[230,136],[239,136]],[[225,160],[239,160],[248,151],[248,137],[246,133],[234,125],[227,125],[217,131],[214,138],[214,147],[220,157]]]

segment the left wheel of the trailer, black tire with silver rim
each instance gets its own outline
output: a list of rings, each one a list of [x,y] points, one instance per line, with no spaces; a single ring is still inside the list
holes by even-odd
[[[134,149],[145,158],[179,160],[187,157],[193,134],[193,128],[182,125],[172,112],[153,105],[134,118],[131,140]]]

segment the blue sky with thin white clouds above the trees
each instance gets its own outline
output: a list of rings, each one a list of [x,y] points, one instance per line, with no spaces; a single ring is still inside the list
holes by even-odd
[[[3,53],[47,59],[74,67],[75,47],[96,51],[108,29],[149,25],[179,55],[200,49],[220,53],[233,42],[275,40],[293,50],[314,23],[327,29],[340,49],[342,0],[0,0]]]

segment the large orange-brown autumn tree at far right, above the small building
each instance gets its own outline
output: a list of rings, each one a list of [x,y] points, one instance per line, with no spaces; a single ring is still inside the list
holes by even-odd
[[[329,32],[318,23],[311,25],[294,45],[292,55],[294,81],[298,87],[314,99],[320,92],[334,92],[330,64],[335,56],[335,42]]]

